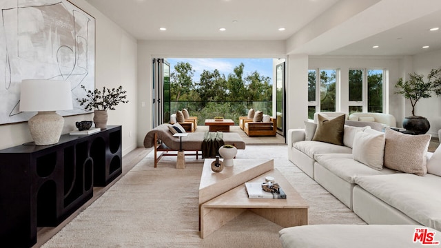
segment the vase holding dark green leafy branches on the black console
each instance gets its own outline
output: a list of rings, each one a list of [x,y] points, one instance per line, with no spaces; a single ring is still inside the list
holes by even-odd
[[[128,103],[126,91],[123,90],[123,86],[113,88],[103,87],[101,92],[98,89],[87,90],[84,85],[81,88],[87,93],[86,98],[76,99],[79,101],[80,106],[84,105],[85,110],[94,111],[94,123],[95,127],[105,128],[107,127],[107,110],[114,110],[119,103]]]

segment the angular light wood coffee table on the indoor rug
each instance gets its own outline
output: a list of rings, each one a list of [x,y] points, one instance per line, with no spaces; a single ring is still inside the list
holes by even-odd
[[[222,172],[215,174],[208,174],[206,165],[209,167],[213,160],[205,160],[203,174],[201,177],[201,186],[199,187],[199,203],[200,203],[200,216],[199,221],[201,225],[201,238],[205,238],[212,234],[214,231],[236,218],[236,216],[243,213],[243,211],[251,210],[255,214],[263,216],[268,220],[280,225],[281,227],[294,227],[298,225],[308,224],[308,208],[307,202],[296,192],[291,184],[277,169],[274,167],[274,161],[268,161],[267,163],[256,164],[256,168],[253,168],[251,163],[255,161],[249,160],[248,168],[239,174],[234,174],[227,171],[225,176]],[[237,160],[236,160],[237,161]],[[240,163],[236,163],[232,167],[238,167],[240,169]],[[243,160],[244,163],[247,160]],[[260,164],[259,164],[260,163]],[[271,166],[269,166],[271,165]],[[246,166],[246,165],[245,165]],[[244,167],[245,167],[244,166]],[[211,170],[211,168],[208,168]],[[256,176],[255,178],[247,179],[245,175],[256,173],[255,171],[260,169],[269,169],[267,172]],[[205,171],[205,173],[204,173]],[[231,186],[229,178],[227,176],[233,174],[234,181]],[[241,176],[237,176],[240,175]],[[247,190],[245,189],[245,182],[264,182],[266,176],[273,176],[276,182],[282,187],[287,199],[249,199]],[[214,177],[214,178],[211,178]],[[212,184],[207,184],[210,180],[216,181]],[[205,185],[205,187],[203,187]],[[220,189],[219,189],[220,188]],[[202,191],[202,192],[201,192]],[[221,192],[223,191],[223,192]],[[218,194],[218,196],[215,196]],[[215,196],[212,198],[212,196]],[[211,200],[207,200],[212,198]],[[205,201],[207,200],[207,201]],[[205,202],[204,202],[205,201]]]

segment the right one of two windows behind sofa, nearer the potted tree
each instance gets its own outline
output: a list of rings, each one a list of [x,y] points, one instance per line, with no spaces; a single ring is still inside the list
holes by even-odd
[[[383,70],[349,70],[349,114],[383,112]]]

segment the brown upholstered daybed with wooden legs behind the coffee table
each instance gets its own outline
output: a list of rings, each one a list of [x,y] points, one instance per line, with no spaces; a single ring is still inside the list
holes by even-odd
[[[169,130],[170,124],[158,125],[154,129],[147,132],[144,138],[144,147],[150,148],[154,146],[154,167],[162,156],[176,156],[176,153],[169,154],[168,152],[177,152],[182,149],[185,152],[195,152],[196,159],[199,152],[202,150],[202,143],[204,140],[204,132],[187,133],[188,135],[182,137],[182,144],[179,137],[174,137]],[[245,149],[245,142],[237,133],[223,133],[223,141],[225,145],[234,145],[237,149]],[[161,154],[158,156],[158,153]]]

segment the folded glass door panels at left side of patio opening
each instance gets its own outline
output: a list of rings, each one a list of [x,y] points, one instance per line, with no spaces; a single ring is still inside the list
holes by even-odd
[[[170,122],[170,63],[153,59],[153,127]]]

